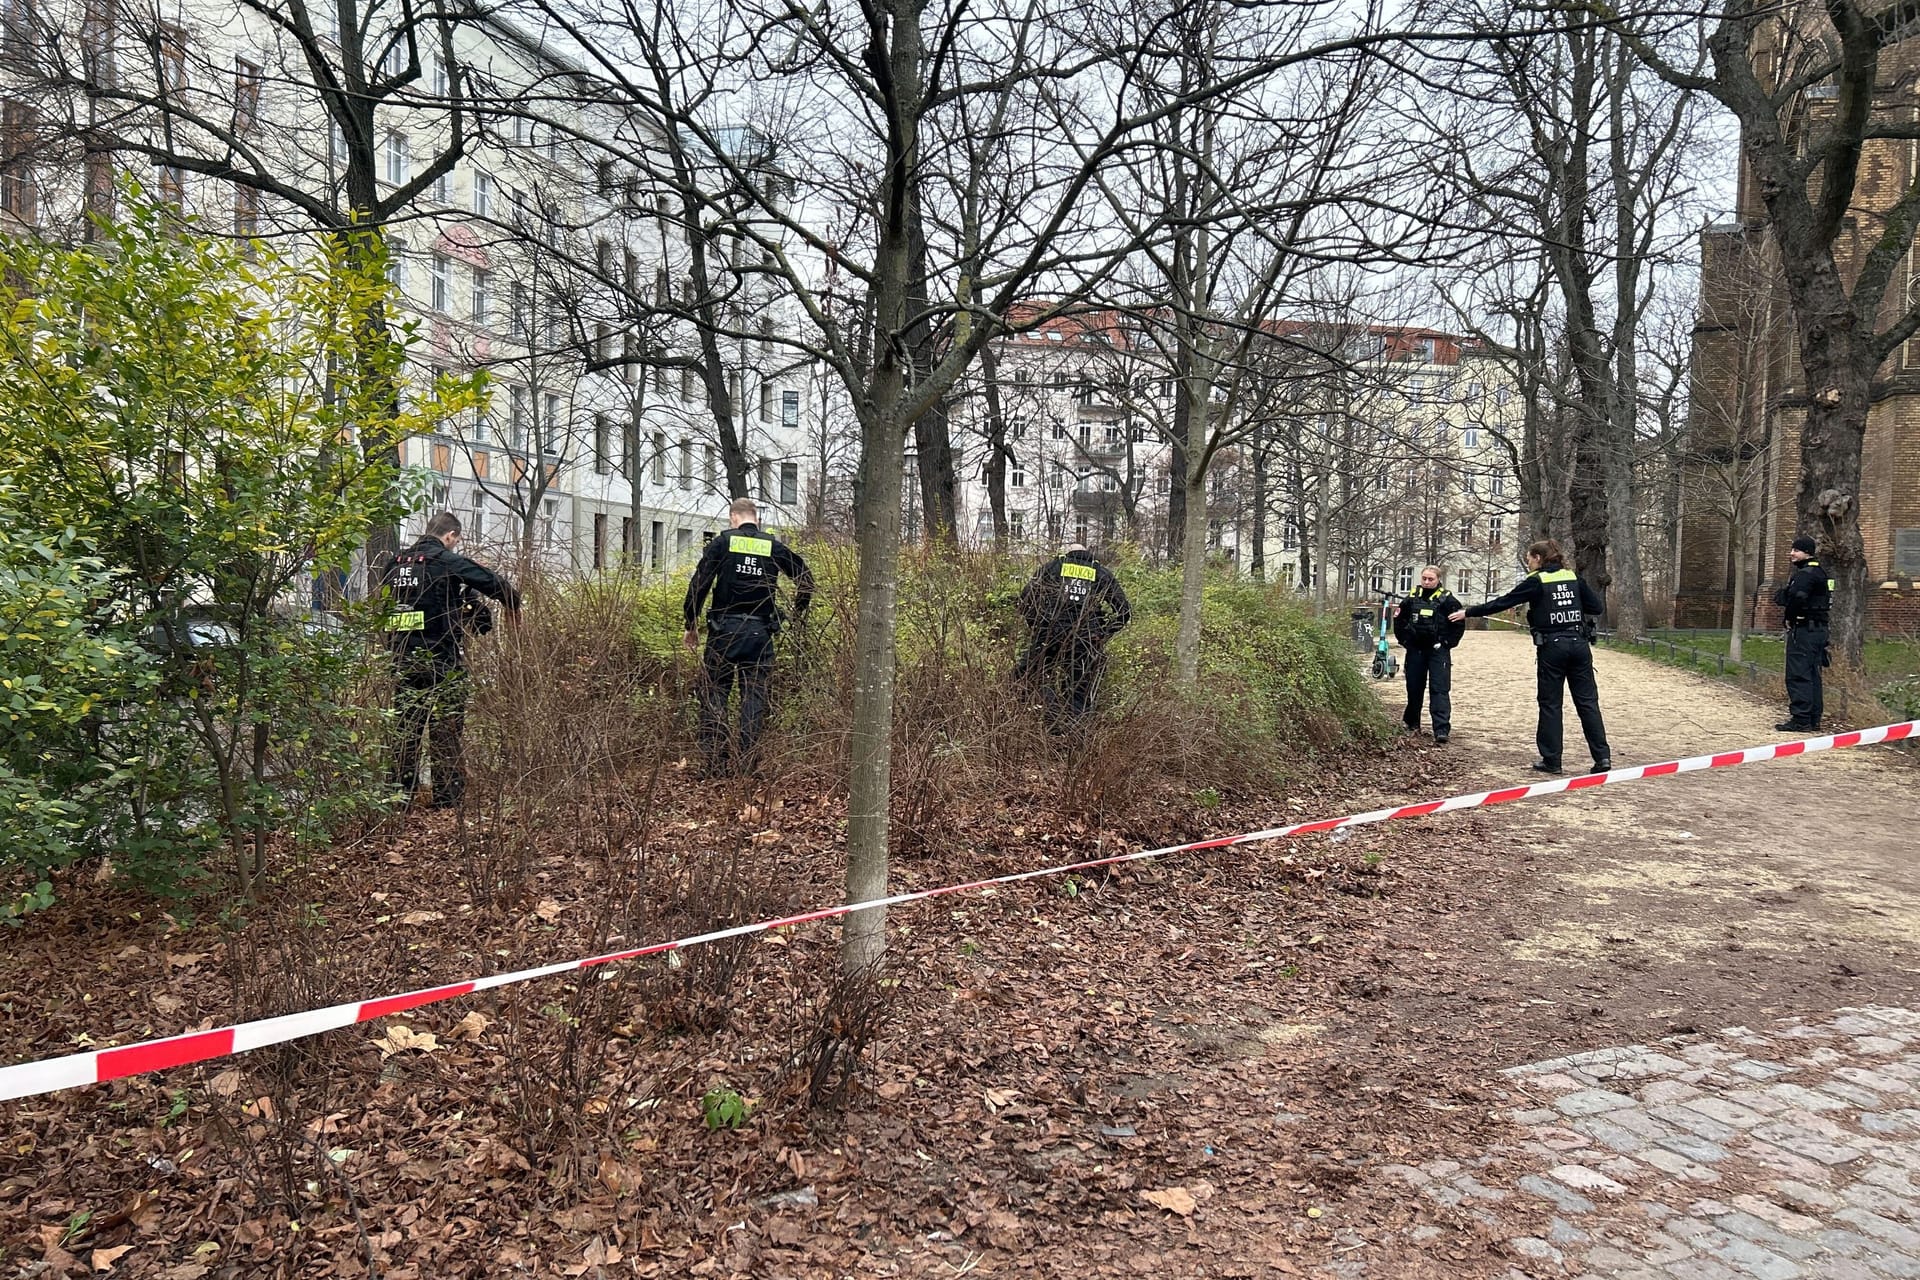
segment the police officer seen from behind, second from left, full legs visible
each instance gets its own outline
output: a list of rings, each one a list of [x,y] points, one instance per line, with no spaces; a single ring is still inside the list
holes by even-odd
[[[766,722],[768,687],[774,676],[774,635],[781,612],[774,604],[780,576],[793,580],[793,620],[806,618],[814,601],[814,576],[806,560],[787,543],[760,530],[758,507],[751,497],[735,497],[728,509],[732,530],[707,543],[687,583],[684,612],[687,649],[697,643],[697,620],[707,593],[707,654],[701,660],[701,750],[707,777],[730,773],[739,760],[753,768],[753,752]],[[728,750],[728,697],[739,683],[739,754]]]

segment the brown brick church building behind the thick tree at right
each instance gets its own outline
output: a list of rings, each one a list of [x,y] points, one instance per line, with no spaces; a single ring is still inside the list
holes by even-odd
[[[1920,94],[1920,67],[1903,65],[1910,61],[1889,58],[1893,83],[1882,84],[1882,100],[1903,113]],[[1832,109],[1822,88],[1830,86],[1807,92],[1814,113]],[[1866,146],[1857,192],[1862,223],[1878,223],[1872,211],[1889,209],[1912,186],[1916,165],[1910,142]],[[1836,246],[1843,276],[1851,278],[1868,244],[1872,234],[1855,234]],[[1908,282],[1889,290],[1889,303],[1920,299],[1920,251],[1908,253],[1905,271]],[[1724,628],[1736,608],[1761,628],[1780,622],[1772,595],[1789,572],[1788,545],[1797,533],[1807,403],[1797,347],[1766,209],[1741,161],[1738,217],[1701,232],[1674,626]],[[1920,338],[1882,368],[1860,459],[1859,514],[1868,631],[1920,633]]]

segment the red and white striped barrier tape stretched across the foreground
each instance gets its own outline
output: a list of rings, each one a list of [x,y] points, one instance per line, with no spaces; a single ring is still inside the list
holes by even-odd
[[[697,933],[685,938],[674,938],[672,942],[655,942],[653,946],[636,946],[624,952],[589,956],[586,960],[566,960],[555,965],[541,965],[538,969],[516,969],[513,973],[495,973],[492,977],[470,979],[467,983],[451,983],[447,986],[428,986],[424,990],[411,990],[401,996],[357,1000],[353,1004],[336,1004],[326,1009],[307,1009],[303,1013],[263,1017],[253,1023],[221,1027],[217,1031],[194,1031],[184,1036],[169,1036],[165,1040],[142,1040],[140,1044],[127,1044],[123,1048],[113,1048],[113,1050],[90,1050],[86,1054],[69,1054],[67,1057],[48,1057],[42,1061],[0,1067],[0,1102],[10,1098],[33,1098],[36,1094],[52,1094],[63,1088],[79,1088],[83,1084],[102,1084],[106,1080],[119,1080],[131,1075],[144,1075],[148,1071],[165,1071],[167,1067],[184,1067],[188,1063],[209,1061],[213,1057],[228,1057],[232,1054],[244,1054],[248,1050],[265,1048],[269,1044],[284,1044],[288,1040],[317,1036],[323,1031],[338,1031],[342,1027],[353,1027],[355,1023],[367,1023],[376,1017],[386,1017],[388,1013],[403,1013],[405,1009],[419,1009],[420,1006],[440,1004],[442,1000],[453,1000],[455,996],[468,996],[476,990],[490,990],[493,986],[513,986],[515,983],[532,983],[536,979],[553,977],[557,973],[593,969],[599,965],[616,963],[620,960],[639,960],[641,956],[659,956],[664,952],[684,950],[687,946],[699,946],[701,942],[720,942],[722,938],[739,938],[751,933],[787,929],[793,925],[806,925],[818,919],[835,919],[839,915],[851,915],[852,912],[902,906],[906,902],[924,902],[927,898],[945,898],[948,894],[972,892],[975,889],[991,889],[995,885],[1016,885],[1020,881],[1041,879],[1046,875],[1068,875],[1073,871],[1112,867],[1123,862],[1144,862],[1148,858],[1165,858],[1167,854],[1190,854],[1206,848],[1227,848],[1231,844],[1283,841],[1294,835],[1338,831],[1340,827],[1361,827],[1367,823],[1390,821],[1396,818],[1427,818],[1430,814],[1450,814],[1453,810],[1480,808],[1484,804],[1505,804],[1507,800],[1532,800],[1536,796],[1551,796],[1563,791],[1586,791],[1590,787],[1603,787],[1607,783],[1630,783],[1642,777],[1667,777],[1668,773],[1693,773],[1697,770],[1724,770],[1736,764],[1755,764],[1759,760],[1807,756],[1816,750],[1836,750],[1841,747],[1870,747],[1874,743],[1899,743],[1901,739],[1908,737],[1920,737],[1920,720],[1905,720],[1901,723],[1880,725],[1876,729],[1855,729],[1851,733],[1830,733],[1826,737],[1811,737],[1811,739],[1801,739],[1797,743],[1772,743],[1768,747],[1724,750],[1711,756],[1688,756],[1686,760],[1663,760],[1661,764],[1636,764],[1624,770],[1611,770],[1607,773],[1555,777],[1551,781],[1532,783],[1526,787],[1505,787],[1501,791],[1476,791],[1473,794],[1448,796],[1446,800],[1425,800],[1421,804],[1402,804],[1398,808],[1373,810],[1367,814],[1348,814],[1346,818],[1323,818],[1317,821],[1300,821],[1286,827],[1267,827],[1265,831],[1248,831],[1246,835],[1227,835],[1212,841],[1192,841],[1188,844],[1167,844],[1165,848],[1142,848],[1131,854],[1114,854],[1112,858],[1092,858],[1087,862],[1039,867],[1035,871],[1014,871],[1010,875],[995,875],[983,881],[968,881],[964,885],[916,889],[914,892],[893,894],[891,898],[874,898],[870,902],[829,906],[818,912],[804,912],[801,915],[783,915],[780,919],[762,919],[753,925],[733,925],[732,929],[714,929],[712,933]]]

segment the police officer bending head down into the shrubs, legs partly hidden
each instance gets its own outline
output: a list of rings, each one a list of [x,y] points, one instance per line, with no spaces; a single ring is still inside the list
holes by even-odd
[[[1106,672],[1106,643],[1133,620],[1114,570],[1079,543],[1037,568],[1020,591],[1027,647],[1014,679],[1039,685],[1046,731],[1066,733],[1087,722]]]

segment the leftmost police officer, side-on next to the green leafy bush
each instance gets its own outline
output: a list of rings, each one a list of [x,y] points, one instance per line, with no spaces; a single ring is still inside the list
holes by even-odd
[[[392,781],[407,800],[420,787],[420,735],[426,735],[434,808],[453,808],[467,791],[461,737],[467,731],[467,635],[493,629],[482,595],[499,601],[509,618],[520,612],[520,593],[505,578],[463,557],[461,522],[440,512],[426,533],[396,555],[380,576],[386,589],[388,639],[399,683],[394,689]]]

